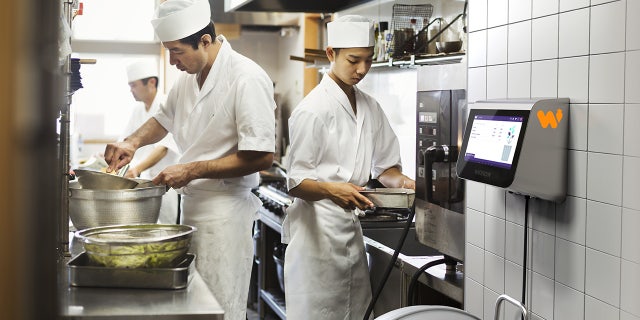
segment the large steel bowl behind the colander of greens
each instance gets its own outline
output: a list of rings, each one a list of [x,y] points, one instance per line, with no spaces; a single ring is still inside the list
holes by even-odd
[[[76,229],[156,223],[160,215],[165,186],[150,185],[137,179],[139,188],[123,190],[83,189],[77,181],[69,183],[69,218]]]

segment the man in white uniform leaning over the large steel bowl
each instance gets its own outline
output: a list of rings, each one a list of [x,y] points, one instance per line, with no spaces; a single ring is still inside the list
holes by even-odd
[[[167,0],[151,21],[185,71],[164,107],[118,144],[107,145],[108,170],[167,131],[179,147],[179,164],[153,182],[180,189],[183,223],[195,226],[191,251],[226,320],[246,319],[253,258],[252,224],[261,202],[251,189],[258,171],[271,167],[275,150],[273,82],[255,62],[216,36],[208,1]]]

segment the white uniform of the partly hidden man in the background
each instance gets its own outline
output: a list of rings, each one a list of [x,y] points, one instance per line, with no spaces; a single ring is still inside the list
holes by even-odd
[[[142,126],[149,118],[151,118],[154,114],[160,110],[160,106],[165,103],[167,97],[161,93],[156,93],[155,98],[153,98],[153,102],[147,111],[143,102],[137,102],[134,106],[133,112],[131,113],[131,117],[129,118],[129,122],[124,129],[124,134],[120,138],[120,140],[124,140],[127,136],[136,131],[140,126]],[[152,180],[155,176],[158,175],[164,168],[175,164],[178,162],[178,146],[173,141],[173,136],[171,134],[167,134],[162,140],[155,144],[146,145],[138,150],[133,156],[131,160],[131,166],[137,166],[140,162],[144,161],[153,150],[158,146],[164,146],[167,148],[167,154],[158,161],[155,165],[147,168],[145,171],[140,173],[141,179]],[[169,189],[167,193],[162,196],[162,204],[160,205],[160,215],[158,217],[158,223],[167,223],[174,224],[176,223],[178,217],[178,194],[175,190]]]

